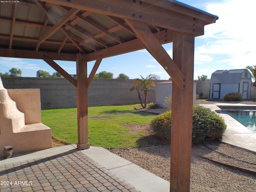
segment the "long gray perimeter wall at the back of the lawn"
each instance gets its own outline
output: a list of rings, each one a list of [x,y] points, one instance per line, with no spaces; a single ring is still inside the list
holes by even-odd
[[[64,78],[2,77],[2,82],[6,89],[39,88],[42,109],[76,107],[76,87]],[[129,92],[133,82],[134,80],[123,79],[93,79],[88,88],[88,105],[138,103],[137,92]],[[155,87],[152,89],[148,93],[149,102],[156,100]],[[144,100],[143,92],[141,96]]]

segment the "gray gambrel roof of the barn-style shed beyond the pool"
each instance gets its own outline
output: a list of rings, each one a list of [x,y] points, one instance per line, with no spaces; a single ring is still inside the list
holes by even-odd
[[[210,83],[240,83],[244,71],[248,72],[248,79],[250,79],[251,74],[247,69],[217,70],[212,73]]]

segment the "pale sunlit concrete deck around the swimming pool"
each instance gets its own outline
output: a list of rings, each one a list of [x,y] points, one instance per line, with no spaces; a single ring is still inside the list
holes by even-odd
[[[236,107],[245,106],[245,107],[255,107],[256,105],[248,104],[234,104],[234,103],[214,103],[214,104],[200,104],[204,107],[210,108],[212,111],[221,110],[218,106],[230,106],[234,109]],[[240,122],[232,118],[228,114],[219,114],[224,118],[224,121],[227,125],[226,131],[224,132],[221,141],[227,144],[238,146],[246,150],[256,152],[256,134],[242,125]]]

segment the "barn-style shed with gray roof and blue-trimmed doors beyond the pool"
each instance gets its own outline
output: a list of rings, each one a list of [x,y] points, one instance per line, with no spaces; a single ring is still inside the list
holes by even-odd
[[[239,92],[244,100],[250,99],[251,74],[247,69],[217,70],[210,79],[210,98],[223,99],[231,92]]]

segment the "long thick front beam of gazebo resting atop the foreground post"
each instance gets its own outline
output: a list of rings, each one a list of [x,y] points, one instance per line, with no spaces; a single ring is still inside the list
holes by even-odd
[[[144,2],[141,4],[140,1],[131,0],[123,0],[122,2],[120,2],[120,0],[76,0],[70,2],[67,0],[42,1],[123,19],[134,19],[152,26],[185,32],[194,36],[204,34],[205,21],[196,18],[197,16],[201,15],[201,18],[210,16],[212,19],[211,23],[214,23],[217,19],[216,16],[212,16],[206,12],[203,13],[195,8],[195,14],[187,15],[186,11],[184,13],[179,13],[161,6],[154,6],[150,3]],[[166,3],[168,4],[170,1],[166,1]],[[176,2],[174,1],[173,3],[175,4]],[[190,9],[187,6],[182,7],[184,10]]]

